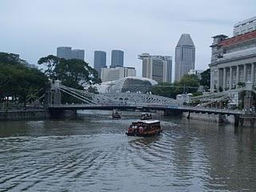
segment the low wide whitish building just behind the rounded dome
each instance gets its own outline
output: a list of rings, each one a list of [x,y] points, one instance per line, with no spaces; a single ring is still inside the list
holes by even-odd
[[[136,70],[134,67],[102,68],[101,71],[102,82],[115,81],[119,78],[135,76]]]

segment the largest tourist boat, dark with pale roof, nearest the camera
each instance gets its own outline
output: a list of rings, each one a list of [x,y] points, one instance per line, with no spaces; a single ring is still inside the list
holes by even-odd
[[[127,136],[146,137],[146,136],[152,136],[155,134],[160,134],[161,132],[162,132],[162,129],[160,126],[160,121],[147,120],[147,121],[132,122],[126,134]]]

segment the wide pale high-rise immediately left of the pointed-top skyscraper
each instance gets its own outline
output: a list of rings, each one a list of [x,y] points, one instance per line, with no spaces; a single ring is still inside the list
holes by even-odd
[[[157,82],[171,82],[172,58],[170,56],[140,54],[142,59],[142,77]]]

